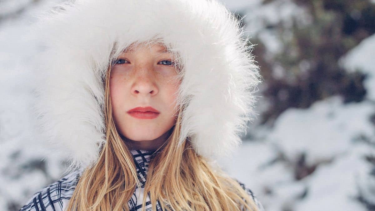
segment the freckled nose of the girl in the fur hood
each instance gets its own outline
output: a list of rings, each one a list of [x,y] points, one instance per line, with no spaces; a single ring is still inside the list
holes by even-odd
[[[132,95],[153,96],[158,90],[155,77],[148,68],[139,68],[135,71],[135,80],[131,89]]]

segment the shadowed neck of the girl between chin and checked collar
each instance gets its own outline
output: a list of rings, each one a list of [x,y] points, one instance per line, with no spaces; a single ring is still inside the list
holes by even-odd
[[[135,140],[128,139],[122,136],[121,134],[120,134],[120,137],[128,145],[129,150],[142,149],[142,150],[147,150],[147,151],[154,151],[166,142],[168,137],[171,135],[173,128],[174,127],[166,131],[160,137],[157,137],[156,139],[153,139],[153,140],[135,141]]]

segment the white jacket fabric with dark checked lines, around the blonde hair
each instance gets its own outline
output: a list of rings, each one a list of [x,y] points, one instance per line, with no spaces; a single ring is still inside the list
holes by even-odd
[[[150,163],[154,151],[131,150],[130,152],[134,158],[141,187],[136,187],[133,196],[128,202],[128,205],[130,211],[141,211],[146,173],[148,170],[148,164]],[[64,176],[57,182],[54,182],[36,192],[31,199],[28,200],[26,205],[20,209],[20,211],[65,211],[79,178],[80,172],[72,172]],[[237,182],[239,181],[237,180]],[[254,193],[250,189],[246,188],[241,182],[239,182],[239,184],[248,192],[249,195],[252,196],[252,199],[254,199],[260,208],[260,211],[264,211],[262,204],[255,197]],[[162,210],[159,201],[157,201],[156,208],[157,211]],[[152,211],[150,194],[147,194],[145,210]]]

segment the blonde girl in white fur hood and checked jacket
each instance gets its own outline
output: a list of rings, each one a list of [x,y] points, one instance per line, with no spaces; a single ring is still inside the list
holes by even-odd
[[[264,210],[214,163],[241,143],[261,78],[223,5],[76,0],[37,29],[40,139],[71,166],[21,210]]]

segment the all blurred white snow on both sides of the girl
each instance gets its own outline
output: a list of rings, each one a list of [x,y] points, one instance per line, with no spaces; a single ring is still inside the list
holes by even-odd
[[[20,2],[22,6],[30,1]],[[36,21],[33,15],[53,4],[48,2],[40,1],[19,17],[0,22],[0,210],[19,209],[31,194],[57,179],[65,167],[60,163],[64,158],[48,154],[48,146],[33,139],[30,121],[33,55],[40,47],[37,34],[28,30]],[[225,3],[232,11],[250,4]],[[8,7],[0,15],[13,10]],[[270,48],[277,50],[274,43]],[[360,68],[370,75],[365,81],[365,101],[343,104],[339,96],[333,96],[309,109],[288,109],[274,128],[252,128],[258,131],[255,140],[244,142],[231,159],[220,161],[225,170],[254,191],[267,211],[364,211],[367,209],[355,199],[359,190],[375,203],[369,185],[374,188],[375,181],[368,176],[371,168],[364,159],[374,155],[375,130],[369,120],[375,113],[373,55],[375,36],[365,39],[341,61],[348,71]],[[294,175],[301,169],[296,162],[301,155],[313,172],[297,180]],[[46,166],[41,159],[46,160]]]

